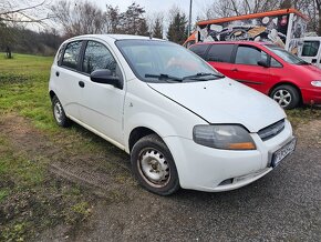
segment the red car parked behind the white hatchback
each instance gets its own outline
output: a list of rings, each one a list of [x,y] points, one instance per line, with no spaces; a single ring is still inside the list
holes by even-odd
[[[270,43],[203,42],[189,48],[225,75],[276,100],[282,108],[321,103],[321,70]]]

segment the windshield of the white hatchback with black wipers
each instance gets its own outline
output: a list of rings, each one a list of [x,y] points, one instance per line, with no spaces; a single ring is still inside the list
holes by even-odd
[[[146,82],[207,81],[222,78],[198,56],[158,40],[118,40],[116,46],[134,73]]]

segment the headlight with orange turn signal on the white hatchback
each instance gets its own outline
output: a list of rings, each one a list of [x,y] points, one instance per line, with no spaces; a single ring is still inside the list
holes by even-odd
[[[195,125],[194,142],[224,150],[255,150],[256,144],[249,132],[241,125]]]

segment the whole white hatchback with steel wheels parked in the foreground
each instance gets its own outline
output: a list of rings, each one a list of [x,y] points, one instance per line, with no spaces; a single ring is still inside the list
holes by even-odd
[[[60,47],[50,98],[72,121],[131,154],[148,191],[228,191],[270,172],[296,147],[277,102],[175,43],[81,36]]]

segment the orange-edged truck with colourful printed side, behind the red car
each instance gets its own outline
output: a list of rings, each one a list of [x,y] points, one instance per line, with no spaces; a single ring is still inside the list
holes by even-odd
[[[196,31],[184,46],[188,48],[199,41],[265,41],[280,46],[306,61],[321,67],[321,38],[304,39],[308,20],[296,9],[280,9],[199,21]]]

